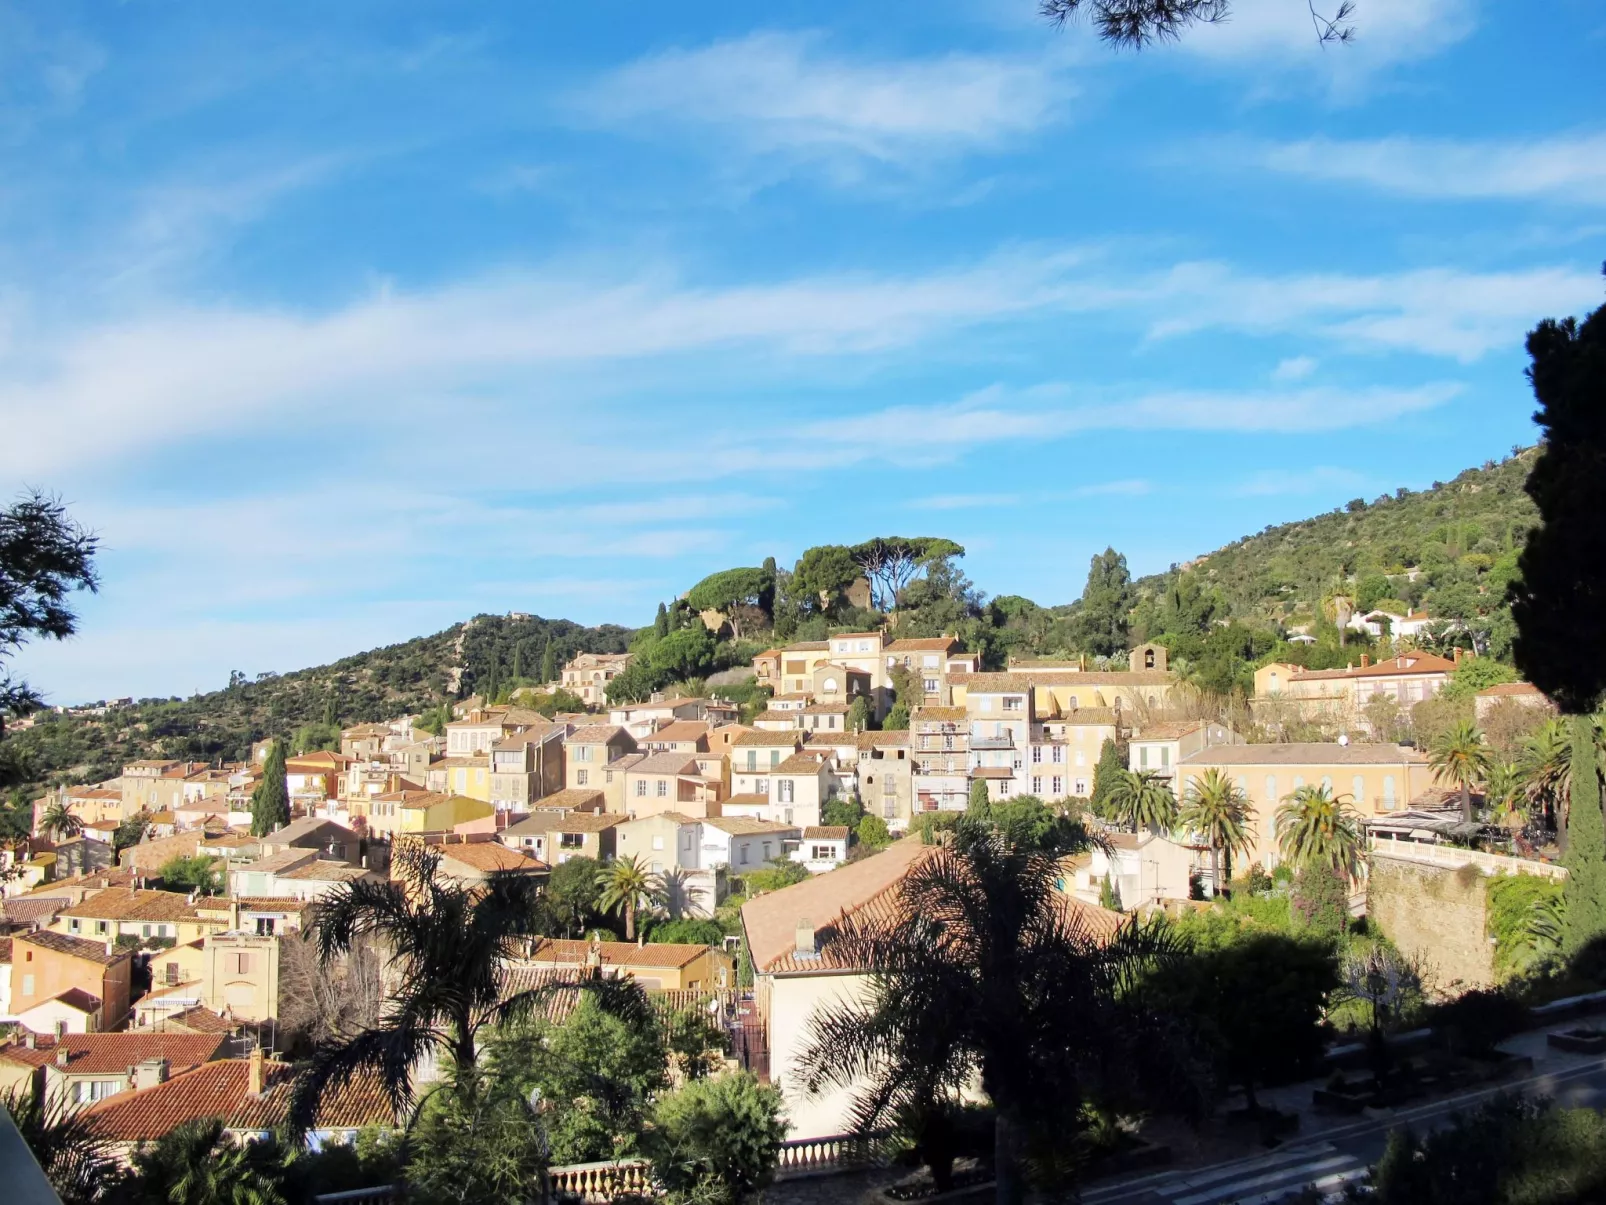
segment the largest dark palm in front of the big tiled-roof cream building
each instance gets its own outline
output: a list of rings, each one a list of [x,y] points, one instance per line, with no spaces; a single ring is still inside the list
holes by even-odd
[[[915,1118],[933,1166],[933,1128],[976,1081],[994,1107],[997,1200],[1023,1192],[1028,1149],[1065,1158],[1084,1105],[1192,1102],[1174,1019],[1129,991],[1174,938],[1123,924],[1100,937],[1068,906],[1057,852],[1012,845],[975,824],[901,880],[901,906],[835,922],[832,959],[870,970],[867,988],[817,1011],[800,1056],[809,1094],[853,1089],[853,1128]],[[1108,938],[1108,940],[1105,940]],[[907,1123],[907,1121],[906,1121]],[[1070,1139],[1070,1141],[1068,1141]],[[941,1154],[941,1138],[936,1139]]]

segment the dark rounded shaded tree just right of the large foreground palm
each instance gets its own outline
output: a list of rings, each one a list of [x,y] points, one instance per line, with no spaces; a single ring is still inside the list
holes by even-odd
[[[1320,1028],[1338,988],[1338,959],[1322,940],[1257,933],[1193,950],[1150,983],[1156,1006],[1192,1017],[1224,1084],[1254,1089],[1310,1073],[1322,1062]]]

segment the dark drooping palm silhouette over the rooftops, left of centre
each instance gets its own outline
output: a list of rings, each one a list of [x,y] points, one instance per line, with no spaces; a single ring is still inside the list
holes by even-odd
[[[313,1052],[291,1101],[299,1133],[310,1128],[326,1091],[363,1070],[379,1075],[403,1112],[421,1057],[445,1056],[458,1072],[472,1073],[485,1025],[525,1017],[562,991],[591,993],[609,1012],[647,1023],[642,990],[630,978],[604,977],[601,967],[509,995],[509,964],[543,930],[536,880],[498,871],[469,885],[437,877],[438,866],[438,848],[406,842],[395,853],[398,879],[340,884],[324,897],[312,933],[318,958],[329,962],[374,937],[390,951],[385,980],[395,986],[377,1025]]]

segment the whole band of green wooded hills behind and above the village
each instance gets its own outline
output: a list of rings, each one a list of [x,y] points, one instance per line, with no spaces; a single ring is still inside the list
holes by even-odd
[[[1155,639],[1184,678],[1214,694],[1246,692],[1254,667],[1272,659],[1330,667],[1386,652],[1384,641],[1339,639],[1338,619],[1349,609],[1426,609],[1444,623],[1425,643],[1508,660],[1505,588],[1535,521],[1522,493],[1532,460],[1531,448],[1428,490],[1357,498],[1137,580],[1108,549],[1094,558],[1082,598],[1062,606],[1013,594],[989,601],[960,569],[959,545],[882,537],[809,548],[792,570],[768,559],[711,574],[639,630],[480,615],[332,665],[254,680],[236,673],[226,688],[191,699],[42,717],[0,744],[0,782],[95,781],[138,757],[241,760],[265,736],[326,742],[337,725],[551,683],[577,652],[638,654],[615,680],[615,699],[676,683],[703,689],[708,675],[747,665],[769,643],[885,623],[896,636],[954,633],[989,668],[1010,657],[1086,656],[1103,665]],[[724,628],[708,631],[699,612],[718,612]],[[1317,643],[1290,644],[1293,628]],[[750,686],[721,689],[761,707]]]

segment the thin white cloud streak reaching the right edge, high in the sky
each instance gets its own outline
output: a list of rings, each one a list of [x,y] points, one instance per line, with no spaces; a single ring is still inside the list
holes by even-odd
[[[1254,159],[1275,172],[1400,196],[1606,204],[1606,133],[1524,141],[1310,138],[1262,148]]]

